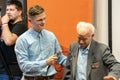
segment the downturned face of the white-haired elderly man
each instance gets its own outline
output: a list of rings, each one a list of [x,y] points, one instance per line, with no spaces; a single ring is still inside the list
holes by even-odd
[[[93,39],[93,36],[94,34],[91,34],[89,30],[81,30],[78,33],[78,43],[82,48],[86,48]]]

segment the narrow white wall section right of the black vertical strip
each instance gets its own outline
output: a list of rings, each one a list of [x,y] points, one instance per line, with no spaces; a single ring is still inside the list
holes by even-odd
[[[112,47],[120,61],[120,0],[112,0]]]

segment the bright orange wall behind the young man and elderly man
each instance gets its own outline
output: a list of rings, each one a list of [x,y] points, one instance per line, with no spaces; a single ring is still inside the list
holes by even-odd
[[[92,0],[27,0],[28,8],[41,5],[47,15],[45,28],[54,32],[63,49],[77,39],[78,21],[92,22]]]

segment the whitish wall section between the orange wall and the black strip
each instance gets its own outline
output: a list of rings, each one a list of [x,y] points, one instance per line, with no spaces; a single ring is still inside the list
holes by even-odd
[[[108,45],[108,0],[93,0],[95,40]]]

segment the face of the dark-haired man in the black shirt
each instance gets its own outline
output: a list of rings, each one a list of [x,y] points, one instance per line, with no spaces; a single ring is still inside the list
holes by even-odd
[[[8,14],[10,20],[16,20],[19,16],[21,16],[22,11],[17,10],[15,5],[7,5],[6,14]]]

